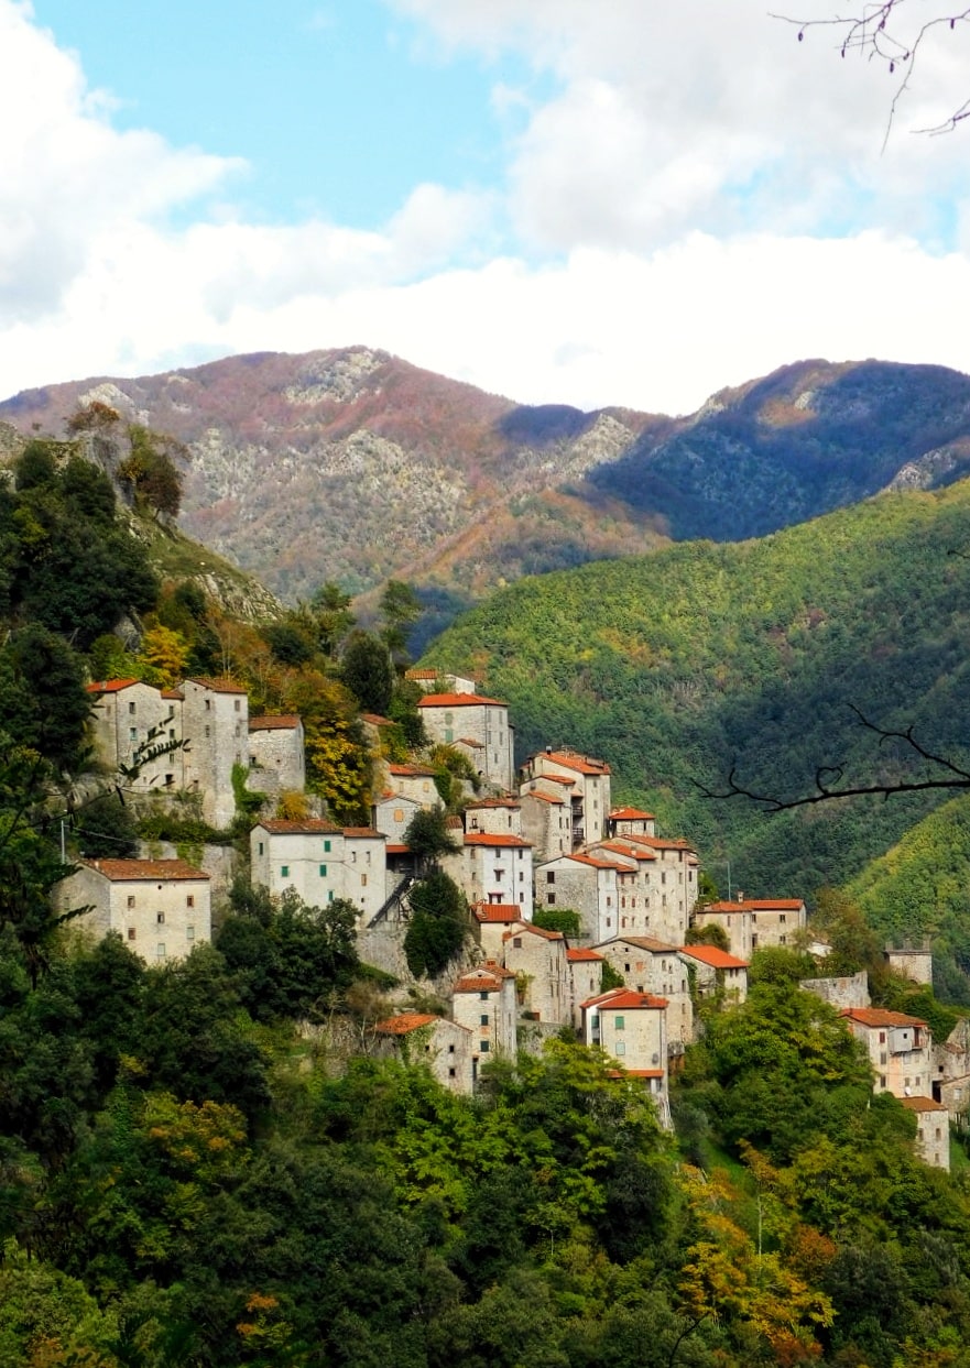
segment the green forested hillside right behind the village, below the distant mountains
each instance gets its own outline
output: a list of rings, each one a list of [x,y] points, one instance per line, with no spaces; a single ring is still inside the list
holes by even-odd
[[[524,580],[439,637],[428,665],[476,666],[508,699],[520,755],[572,743],[606,758],[614,796],[698,843],[722,885],[807,895],[889,848],[945,793],[765,815],[711,800],[919,773],[884,728],[966,758],[970,483],[887,494],[758,542],[696,542]]]

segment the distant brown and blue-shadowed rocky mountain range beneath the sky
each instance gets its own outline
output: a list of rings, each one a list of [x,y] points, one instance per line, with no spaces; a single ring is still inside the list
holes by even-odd
[[[259,353],[29,390],[0,420],[60,432],[92,398],[190,447],[182,527],[280,596],[393,576],[441,625],[523,575],[970,471],[970,378],[880,361],[799,361],[673,419],[516,405],[365,347]]]

